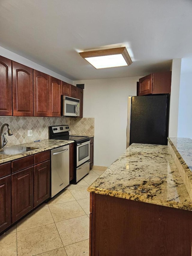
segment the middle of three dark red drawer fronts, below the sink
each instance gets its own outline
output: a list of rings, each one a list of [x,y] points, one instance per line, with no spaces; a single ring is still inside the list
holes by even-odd
[[[11,173],[15,173],[33,165],[33,155],[11,161]]]

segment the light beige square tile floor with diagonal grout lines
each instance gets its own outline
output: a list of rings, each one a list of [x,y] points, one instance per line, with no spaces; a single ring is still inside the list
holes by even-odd
[[[0,256],[88,256],[89,192],[104,171],[90,170],[76,185],[44,203],[0,236]]]

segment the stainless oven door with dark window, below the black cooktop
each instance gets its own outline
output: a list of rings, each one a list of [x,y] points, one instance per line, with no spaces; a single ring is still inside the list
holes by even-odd
[[[77,143],[77,167],[90,159],[90,140]]]

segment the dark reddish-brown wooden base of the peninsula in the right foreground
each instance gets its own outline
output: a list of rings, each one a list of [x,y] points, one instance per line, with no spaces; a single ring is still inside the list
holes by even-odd
[[[90,193],[90,256],[190,256],[192,212]]]

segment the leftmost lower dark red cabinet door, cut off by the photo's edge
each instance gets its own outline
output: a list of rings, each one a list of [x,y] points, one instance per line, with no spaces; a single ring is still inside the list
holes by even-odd
[[[0,179],[0,233],[11,225],[11,176]]]

